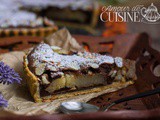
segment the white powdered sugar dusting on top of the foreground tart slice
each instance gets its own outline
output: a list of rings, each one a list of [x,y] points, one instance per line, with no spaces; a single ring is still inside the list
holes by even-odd
[[[86,67],[98,68],[101,64],[114,64],[117,61],[117,59],[111,56],[89,52],[78,52],[74,55],[61,55],[54,52],[48,44],[44,43],[38,45],[30,56],[31,59],[33,59],[33,65],[35,65],[33,67],[36,67],[39,63],[47,63],[46,68],[53,68],[53,71],[58,71],[59,69],[80,70]],[[118,61],[116,65],[121,67],[123,64],[121,62],[122,61]]]

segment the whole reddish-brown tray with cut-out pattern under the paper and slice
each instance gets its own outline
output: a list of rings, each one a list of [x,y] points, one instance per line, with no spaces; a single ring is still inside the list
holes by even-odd
[[[91,52],[112,54],[137,61],[136,84],[114,93],[105,94],[92,99],[89,103],[101,108],[114,100],[153,89],[160,85],[159,77],[153,74],[154,68],[160,63],[160,53],[150,47],[150,37],[145,34],[122,35],[111,38],[73,35],[77,41],[87,46]],[[14,37],[0,39],[0,52],[22,50],[31,47],[42,40],[41,37]],[[160,119],[159,95],[124,102],[115,105],[109,112],[87,113],[78,115],[46,115],[25,117],[25,119]],[[153,109],[153,110],[150,110]],[[22,119],[24,116],[12,116],[12,119]],[[7,117],[3,118],[7,119]],[[11,117],[8,117],[11,119]]]

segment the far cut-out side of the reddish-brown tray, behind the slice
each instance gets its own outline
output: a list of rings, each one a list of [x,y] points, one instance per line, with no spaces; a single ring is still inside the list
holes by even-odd
[[[125,58],[134,46],[138,34],[126,34],[122,36],[103,38],[84,35],[73,35],[74,38],[91,52],[111,54]],[[0,38],[0,54],[15,50],[30,48],[43,40],[43,37],[16,36]],[[123,49],[121,49],[123,48]],[[121,50],[120,50],[121,49]]]

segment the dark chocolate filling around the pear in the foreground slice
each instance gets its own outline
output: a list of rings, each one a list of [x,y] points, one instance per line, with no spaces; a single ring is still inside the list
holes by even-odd
[[[111,77],[108,77],[108,74],[109,72],[111,71],[111,67],[113,65],[101,65],[99,68],[97,69],[93,69],[93,68],[85,68],[85,69],[82,69],[82,70],[77,70],[77,71],[74,71],[74,70],[64,70],[62,71],[64,74],[81,74],[81,75],[87,75],[89,71],[92,72],[92,74],[96,74],[96,73],[100,73],[100,74],[103,74],[105,75],[106,77],[106,81],[107,81],[107,84],[111,84],[113,82],[113,78]],[[56,80],[58,78],[60,78],[62,75],[61,74],[58,74],[58,72],[52,72],[52,71],[47,71],[47,74],[49,76],[49,81],[52,82],[53,80]],[[42,97],[45,97],[45,96],[48,96],[48,95],[54,95],[54,94],[62,94],[64,92],[73,92],[73,91],[76,91],[76,90],[84,90],[84,89],[88,89],[88,88],[93,88],[93,87],[81,87],[81,88],[78,88],[75,86],[75,89],[72,89],[72,88],[61,88],[59,90],[55,90],[53,93],[49,93],[47,91],[45,91],[45,89],[49,86],[50,84],[48,85],[40,85],[41,89],[40,89],[40,94]],[[98,86],[103,86],[103,85],[106,85],[106,83],[104,84],[100,84],[100,85],[95,85],[94,87],[98,87]]]

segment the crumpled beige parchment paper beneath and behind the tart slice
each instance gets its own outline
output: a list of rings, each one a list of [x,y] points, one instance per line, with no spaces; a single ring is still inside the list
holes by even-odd
[[[74,38],[66,29],[62,29],[53,35],[45,39],[50,45],[58,45],[66,50],[83,50],[82,47],[76,42]],[[62,44],[63,43],[63,44]],[[115,91],[115,89],[105,90],[99,93],[91,93],[87,95],[79,95],[76,97],[71,97],[69,99],[57,99],[53,102],[48,103],[35,103],[30,96],[28,91],[25,75],[23,72],[23,51],[15,51],[7,54],[0,55],[2,61],[8,64],[10,67],[14,68],[20,76],[23,78],[22,84],[13,84],[13,85],[2,85],[0,84],[0,91],[2,92],[5,99],[8,100],[9,106],[3,110],[0,110],[0,115],[6,115],[5,111],[14,113],[14,114],[24,114],[24,115],[35,115],[35,114],[52,114],[56,113],[59,104],[63,101],[80,101],[87,102],[90,99],[97,97],[101,94]],[[8,115],[8,113],[7,113]]]

